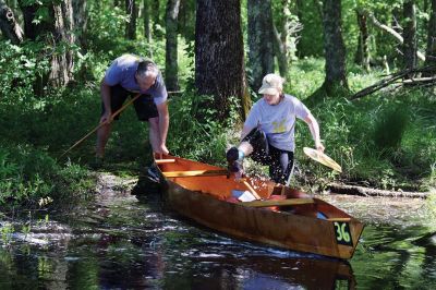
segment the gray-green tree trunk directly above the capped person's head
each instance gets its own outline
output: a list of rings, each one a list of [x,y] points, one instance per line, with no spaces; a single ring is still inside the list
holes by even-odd
[[[274,31],[270,0],[247,0],[249,65],[253,90],[262,85],[267,73],[274,72]]]

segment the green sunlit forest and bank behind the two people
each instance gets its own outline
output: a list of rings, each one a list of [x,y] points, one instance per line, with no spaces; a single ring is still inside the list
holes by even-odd
[[[98,124],[99,83],[123,53],[164,73],[173,155],[225,166],[262,77],[277,72],[343,170],[304,157],[313,141],[299,124],[296,185],[436,186],[436,0],[0,0],[0,28],[3,214],[89,196],[95,136],[62,153]],[[105,170],[148,165],[147,130],[128,109]]]

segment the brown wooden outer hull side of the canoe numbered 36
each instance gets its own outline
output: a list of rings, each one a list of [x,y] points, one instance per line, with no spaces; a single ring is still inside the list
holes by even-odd
[[[189,184],[195,183],[198,178],[189,179],[192,181],[186,182],[184,179],[182,185],[178,179],[166,179],[166,203],[182,216],[242,240],[347,259],[352,257],[363,230],[359,220],[318,198],[313,198],[314,204],[298,206],[304,214],[249,207],[242,203],[217,198],[198,188],[193,190]],[[199,183],[206,184],[222,184],[227,180],[221,178],[217,182],[219,177],[199,179]],[[316,217],[318,210],[335,213],[347,221],[319,219]],[[346,229],[351,238],[348,244],[338,242],[338,232],[340,233],[342,225],[342,230]]]

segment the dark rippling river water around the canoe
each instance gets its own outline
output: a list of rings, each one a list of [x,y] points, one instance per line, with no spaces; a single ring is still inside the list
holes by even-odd
[[[0,289],[436,289],[434,202],[319,197],[366,225],[349,262],[234,240],[109,188],[29,231],[3,221]]]

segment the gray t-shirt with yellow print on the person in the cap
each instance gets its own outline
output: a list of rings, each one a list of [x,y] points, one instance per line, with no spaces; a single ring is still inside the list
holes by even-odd
[[[284,95],[284,98],[274,106],[262,98],[253,105],[244,125],[250,129],[259,125],[270,145],[293,152],[295,118],[304,120],[310,113],[306,106],[291,95]]]

